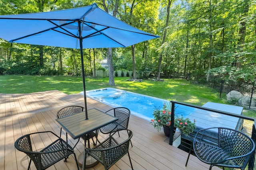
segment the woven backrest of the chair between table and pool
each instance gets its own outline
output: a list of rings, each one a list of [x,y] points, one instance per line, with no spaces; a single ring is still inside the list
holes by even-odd
[[[128,128],[129,118],[131,111],[130,109],[126,107],[116,107],[110,110],[114,110],[114,116],[118,118],[118,121],[116,121],[118,124],[120,124],[125,129]],[[108,110],[108,111],[110,111]],[[106,111],[106,112],[108,112]]]

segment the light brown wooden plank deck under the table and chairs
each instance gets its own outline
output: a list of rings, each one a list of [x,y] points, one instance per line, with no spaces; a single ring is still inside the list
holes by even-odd
[[[30,94],[0,94],[0,169],[27,169],[26,155],[14,148],[14,142],[22,135],[37,131],[53,131],[59,134],[60,127],[55,121],[56,112],[68,105],[83,106],[83,96],[80,94],[66,95],[57,90]],[[87,99],[87,107],[102,111],[111,108],[90,98]],[[157,132],[144,119],[131,115],[129,129],[134,133],[133,147],[130,146],[129,152],[135,170],[207,170],[209,168],[209,165],[202,163],[195,156],[190,157],[188,166],[185,167],[188,153],[164,142],[166,139],[164,133]],[[62,133],[62,137],[65,139],[65,133]],[[106,137],[107,135],[100,134],[99,139],[104,140]],[[68,138],[69,143],[75,143],[70,136]],[[83,143],[83,141],[79,142],[75,148],[77,156],[84,148]],[[31,169],[35,169],[33,163]],[[67,162],[60,161],[51,166],[49,170],[51,169],[76,169],[73,156],[70,156]],[[104,166],[101,164],[88,168],[88,170],[103,169]],[[130,169],[127,155],[111,168],[111,170],[119,169]]]

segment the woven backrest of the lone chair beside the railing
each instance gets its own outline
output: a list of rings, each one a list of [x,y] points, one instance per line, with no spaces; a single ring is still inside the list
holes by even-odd
[[[219,147],[226,150],[230,157],[238,156],[234,161],[241,167],[255,148],[254,142],[248,135],[234,129],[218,128],[218,138]]]

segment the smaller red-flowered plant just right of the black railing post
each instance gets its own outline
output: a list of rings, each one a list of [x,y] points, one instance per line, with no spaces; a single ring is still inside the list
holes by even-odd
[[[193,129],[196,128],[196,120],[194,122],[190,121],[188,118],[184,118],[182,116],[176,119],[176,124],[178,125],[178,129],[182,131],[186,136],[193,132]]]

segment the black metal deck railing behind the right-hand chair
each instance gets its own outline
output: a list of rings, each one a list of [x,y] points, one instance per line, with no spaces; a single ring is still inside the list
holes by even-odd
[[[205,115],[207,115],[207,112],[211,112],[211,113],[213,113],[214,116],[216,116],[216,117],[213,118],[214,120],[218,119],[219,121],[222,121],[222,123],[225,123],[226,121],[231,122],[231,124],[234,124],[234,127],[235,127],[236,130],[243,131],[244,133],[249,135],[254,140],[254,143],[256,143],[256,128],[255,128],[256,119],[253,118],[253,117],[243,115],[242,113],[241,113],[241,115],[239,115],[239,114],[236,114],[236,113],[230,113],[230,112],[220,111],[220,110],[216,110],[216,109],[209,109],[209,108],[206,108],[206,107],[200,107],[200,106],[195,106],[195,105],[191,105],[191,104],[185,104],[185,103],[182,103],[182,102],[176,102],[176,101],[170,101],[170,102],[172,104],[172,115],[171,115],[171,125],[172,126],[170,126],[170,132],[172,132],[172,130],[174,129],[173,125],[174,125],[174,120],[175,120],[175,117],[176,117],[175,114],[180,114],[180,113],[178,113],[178,111],[177,111],[177,113],[175,113],[176,109],[174,109],[174,108],[176,108],[176,105],[188,106],[188,108],[200,109],[200,111],[198,111],[198,112],[194,111],[194,112],[198,113],[198,115],[197,115],[198,120],[196,120],[196,125],[197,124],[203,125],[203,123],[205,123],[204,121],[206,121],[206,122],[208,121],[206,119],[200,119],[200,117],[203,117],[200,114],[204,114],[204,116],[205,116]],[[237,121],[232,122],[232,121],[230,121],[230,119],[227,119],[227,120],[224,119],[223,120],[222,117],[225,117],[224,115],[231,116],[232,118],[236,117]],[[194,117],[189,117],[189,118],[193,119]],[[217,123],[219,123],[219,122],[212,122],[211,124],[214,125],[215,123],[216,123],[216,125],[218,125]],[[209,127],[209,125],[208,125],[208,127]],[[218,125],[218,127],[220,127],[220,126]],[[181,133],[180,145],[179,145],[178,148],[188,152],[188,150],[190,149],[190,146],[192,144],[192,141],[194,139],[194,135],[196,134],[196,132],[199,129],[204,129],[204,128],[196,126],[196,129],[194,129],[193,133],[190,133],[190,135],[183,135]],[[169,139],[169,144],[170,145],[173,145],[173,142],[174,142],[173,139],[174,139],[173,134],[170,133],[170,139]],[[254,168],[254,160],[255,160],[255,152],[254,152],[254,157],[251,158],[251,160],[248,164],[248,169],[253,169]]]

